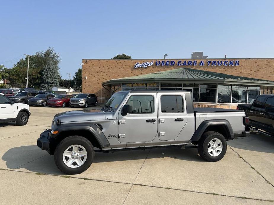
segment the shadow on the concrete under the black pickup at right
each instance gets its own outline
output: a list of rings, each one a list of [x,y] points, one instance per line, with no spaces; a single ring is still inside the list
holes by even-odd
[[[232,148],[274,154],[274,138],[253,130],[249,137],[239,137],[237,140],[227,141],[227,144]]]

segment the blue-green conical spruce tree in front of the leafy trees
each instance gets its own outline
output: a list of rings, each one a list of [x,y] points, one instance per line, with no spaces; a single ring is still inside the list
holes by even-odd
[[[52,87],[59,87],[59,71],[56,64],[49,59],[42,72],[42,90],[51,90]]]

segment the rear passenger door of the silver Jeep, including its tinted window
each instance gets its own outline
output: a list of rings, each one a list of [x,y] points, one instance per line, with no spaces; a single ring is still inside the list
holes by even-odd
[[[159,139],[174,140],[188,121],[185,94],[158,93]]]

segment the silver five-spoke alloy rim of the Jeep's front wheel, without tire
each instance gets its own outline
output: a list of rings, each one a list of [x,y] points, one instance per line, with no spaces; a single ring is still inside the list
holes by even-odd
[[[63,162],[70,168],[80,167],[86,162],[86,149],[78,144],[73,144],[65,149],[63,153]]]

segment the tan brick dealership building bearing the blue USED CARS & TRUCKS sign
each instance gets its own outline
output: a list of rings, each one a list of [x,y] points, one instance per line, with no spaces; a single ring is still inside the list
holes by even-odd
[[[137,82],[134,76],[155,73],[159,71],[169,71],[179,68],[197,69],[197,71],[210,71],[219,74],[233,75],[237,77],[237,82],[230,82],[240,89],[246,90],[249,84],[258,85],[259,94],[274,93],[274,58],[218,58],[218,59],[83,59],[83,84],[82,91],[95,93],[98,97],[110,97],[113,92],[119,90],[126,90],[129,83]],[[132,79],[121,79],[126,77],[133,77]],[[253,81],[246,81],[245,78],[253,78]],[[115,81],[119,79],[119,83]],[[123,83],[124,80],[124,83]],[[169,82],[165,79],[165,82]],[[191,79],[177,79],[177,84],[182,82],[190,82]],[[267,82],[268,81],[268,82]],[[115,83],[111,83],[115,82]],[[161,86],[161,79],[149,80],[146,82],[138,81],[138,83],[158,83],[157,89],[164,89]],[[173,81],[172,81],[173,82]],[[201,83],[195,81],[196,83]],[[267,83],[265,83],[267,82]],[[104,84],[102,84],[104,83]],[[169,82],[171,83],[171,81]],[[216,83],[216,82],[215,82]],[[228,82],[223,82],[228,83]],[[172,89],[177,89],[177,84]],[[132,89],[134,88],[134,85]],[[140,86],[140,84],[138,84]],[[219,85],[221,86],[221,85]],[[124,88],[123,88],[124,87]],[[180,85],[179,85],[180,87]],[[184,90],[184,85],[181,86]],[[193,84],[192,89],[195,85]],[[218,84],[216,84],[218,89]],[[141,89],[139,87],[138,89]],[[143,89],[143,88],[142,88]],[[148,87],[145,89],[149,89]],[[181,89],[181,88],[179,88]],[[233,89],[233,88],[232,88]],[[234,86],[235,89],[235,86]],[[256,88],[257,89],[257,88]],[[192,90],[194,91],[194,90]],[[231,89],[230,89],[231,92]],[[233,92],[233,90],[232,90]],[[216,91],[217,93],[217,91]],[[216,94],[217,95],[217,94]],[[231,94],[230,94],[231,95]],[[200,102],[200,101],[199,101]],[[216,103],[217,97],[216,97]],[[230,103],[233,103],[230,101]],[[244,100],[243,100],[244,103]]]

